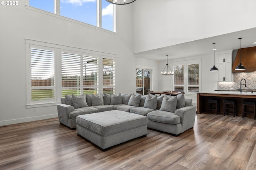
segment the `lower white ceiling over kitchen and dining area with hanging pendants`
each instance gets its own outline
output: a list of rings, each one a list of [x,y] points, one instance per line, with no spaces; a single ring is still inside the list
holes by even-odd
[[[256,44],[254,43],[256,42],[256,28],[242,30],[239,32],[233,32],[230,34],[224,34],[220,36],[214,36],[192,42],[176,44],[168,47],[152,49],[149,51],[143,51],[135,53],[135,57],[160,61],[166,59],[166,54],[169,55],[168,59],[205,55],[213,53],[212,43],[214,42],[216,43],[215,52],[238,49],[238,38],[242,38],[241,48],[256,46]]]

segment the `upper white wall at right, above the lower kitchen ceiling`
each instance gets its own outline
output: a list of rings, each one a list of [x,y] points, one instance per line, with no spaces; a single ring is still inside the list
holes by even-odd
[[[138,0],[134,4],[134,53],[256,27],[256,0]]]

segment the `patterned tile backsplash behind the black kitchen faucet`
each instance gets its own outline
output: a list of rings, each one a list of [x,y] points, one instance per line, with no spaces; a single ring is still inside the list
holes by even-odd
[[[241,79],[246,79],[246,87],[242,85],[242,89],[254,90],[256,89],[256,72],[234,73],[233,82],[218,82],[218,90],[236,90],[240,89]],[[244,80],[242,81],[244,84]]]

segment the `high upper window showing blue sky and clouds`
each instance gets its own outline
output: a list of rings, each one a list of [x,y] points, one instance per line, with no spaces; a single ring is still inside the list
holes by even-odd
[[[114,5],[105,0],[28,0],[29,6],[114,31]],[[97,5],[100,4],[100,5]],[[100,8],[101,7],[101,8]],[[62,18],[64,18],[62,17]]]

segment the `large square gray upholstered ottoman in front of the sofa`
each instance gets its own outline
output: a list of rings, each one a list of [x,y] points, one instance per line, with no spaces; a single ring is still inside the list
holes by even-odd
[[[102,150],[147,135],[148,117],[124,111],[105,111],[76,117],[76,132]]]

